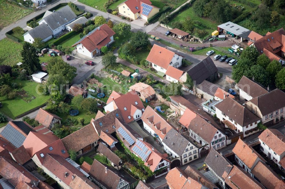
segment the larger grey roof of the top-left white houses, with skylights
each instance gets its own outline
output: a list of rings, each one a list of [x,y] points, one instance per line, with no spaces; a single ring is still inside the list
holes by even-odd
[[[63,24],[67,24],[74,18],[76,18],[76,14],[71,10],[71,8],[68,5],[66,5],[61,9],[53,12],[52,14],[46,16],[43,19],[46,22],[46,24],[48,24],[48,26],[52,30],[54,30]]]

